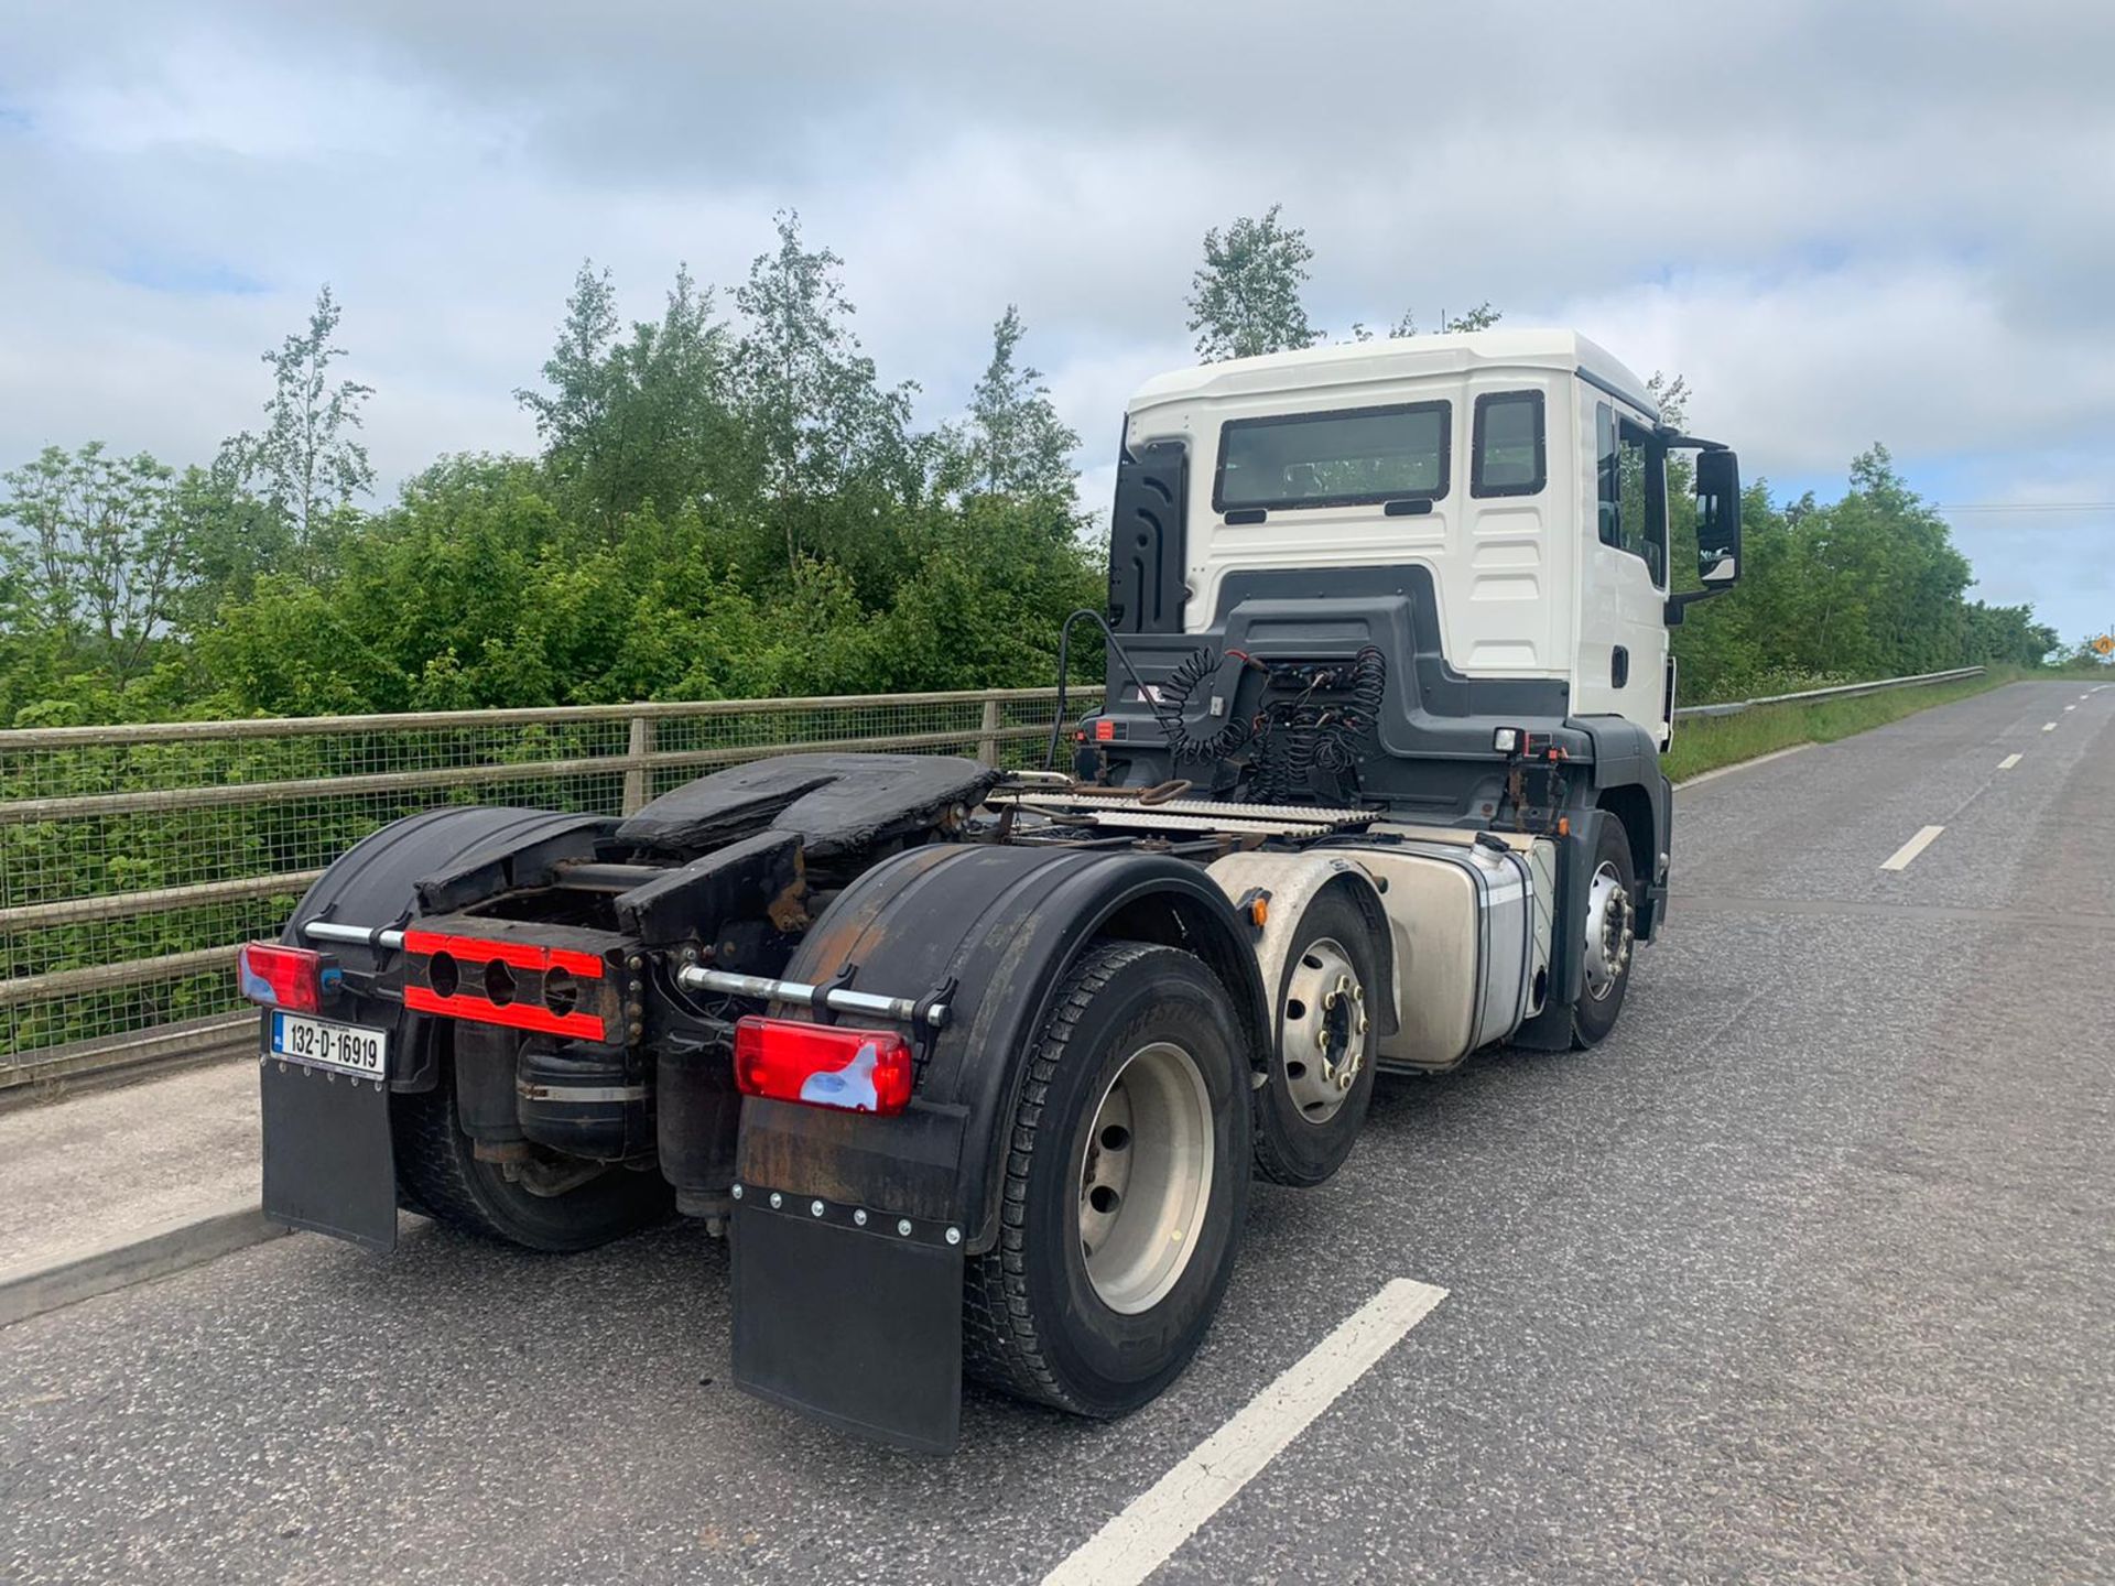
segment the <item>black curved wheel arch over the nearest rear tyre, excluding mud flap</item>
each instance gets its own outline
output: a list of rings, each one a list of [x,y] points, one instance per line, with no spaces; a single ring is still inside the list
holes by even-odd
[[[1161,854],[935,844],[876,865],[802,939],[789,979],[895,996],[948,988],[950,1017],[920,1036],[918,1093],[897,1119],[751,1100],[744,1182],[876,1205],[962,1229],[964,1250],[998,1239],[1007,1121],[1036,1030],[1066,971],[1098,941],[1195,954],[1227,988],[1244,1038],[1269,1043],[1254,949],[1225,895]]]

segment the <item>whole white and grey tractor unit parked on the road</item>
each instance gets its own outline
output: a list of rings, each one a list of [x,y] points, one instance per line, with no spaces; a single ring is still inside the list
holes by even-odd
[[[785,755],[376,831],[241,954],[264,1210],[374,1252],[400,1207],[541,1252],[696,1218],[736,1381],[901,1446],[954,1446],[964,1372],[1136,1408],[1252,1178],[1337,1174],[1381,1076],[1616,1026],[1667,628],[1739,575],[1739,503],[1571,332],[1157,379],[1066,624],[1106,687],[1043,770]]]

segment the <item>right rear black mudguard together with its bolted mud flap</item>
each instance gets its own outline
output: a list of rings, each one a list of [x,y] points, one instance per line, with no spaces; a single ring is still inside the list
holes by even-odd
[[[1030,1045],[1087,943],[1159,941],[1225,983],[1261,1066],[1263,977],[1195,865],[1134,852],[931,846],[861,875],[789,979],[943,992],[899,1117],[749,1100],[734,1218],[734,1379],[759,1398],[909,1449],[960,1421],[962,1267],[998,1241]]]

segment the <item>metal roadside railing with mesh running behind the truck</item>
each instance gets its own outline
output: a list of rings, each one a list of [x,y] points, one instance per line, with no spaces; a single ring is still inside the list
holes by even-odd
[[[1975,677],[1969,666],[1734,715]],[[324,865],[434,804],[628,814],[715,766],[814,749],[1041,759],[1055,689],[592,704],[0,732],[0,1098],[250,1040],[228,969]],[[1074,687],[1083,708],[1098,689]]]

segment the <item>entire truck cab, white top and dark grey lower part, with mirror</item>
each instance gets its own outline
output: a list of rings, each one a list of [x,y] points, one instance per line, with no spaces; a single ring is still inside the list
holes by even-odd
[[[1574,939],[1607,918],[1654,935],[1667,628],[1739,573],[1730,450],[1662,425],[1645,383],[1569,330],[1178,370],[1132,398],[1123,436],[1110,689],[1081,778],[1538,835],[1565,856]],[[1700,584],[1679,592],[1677,448],[1698,455]]]

